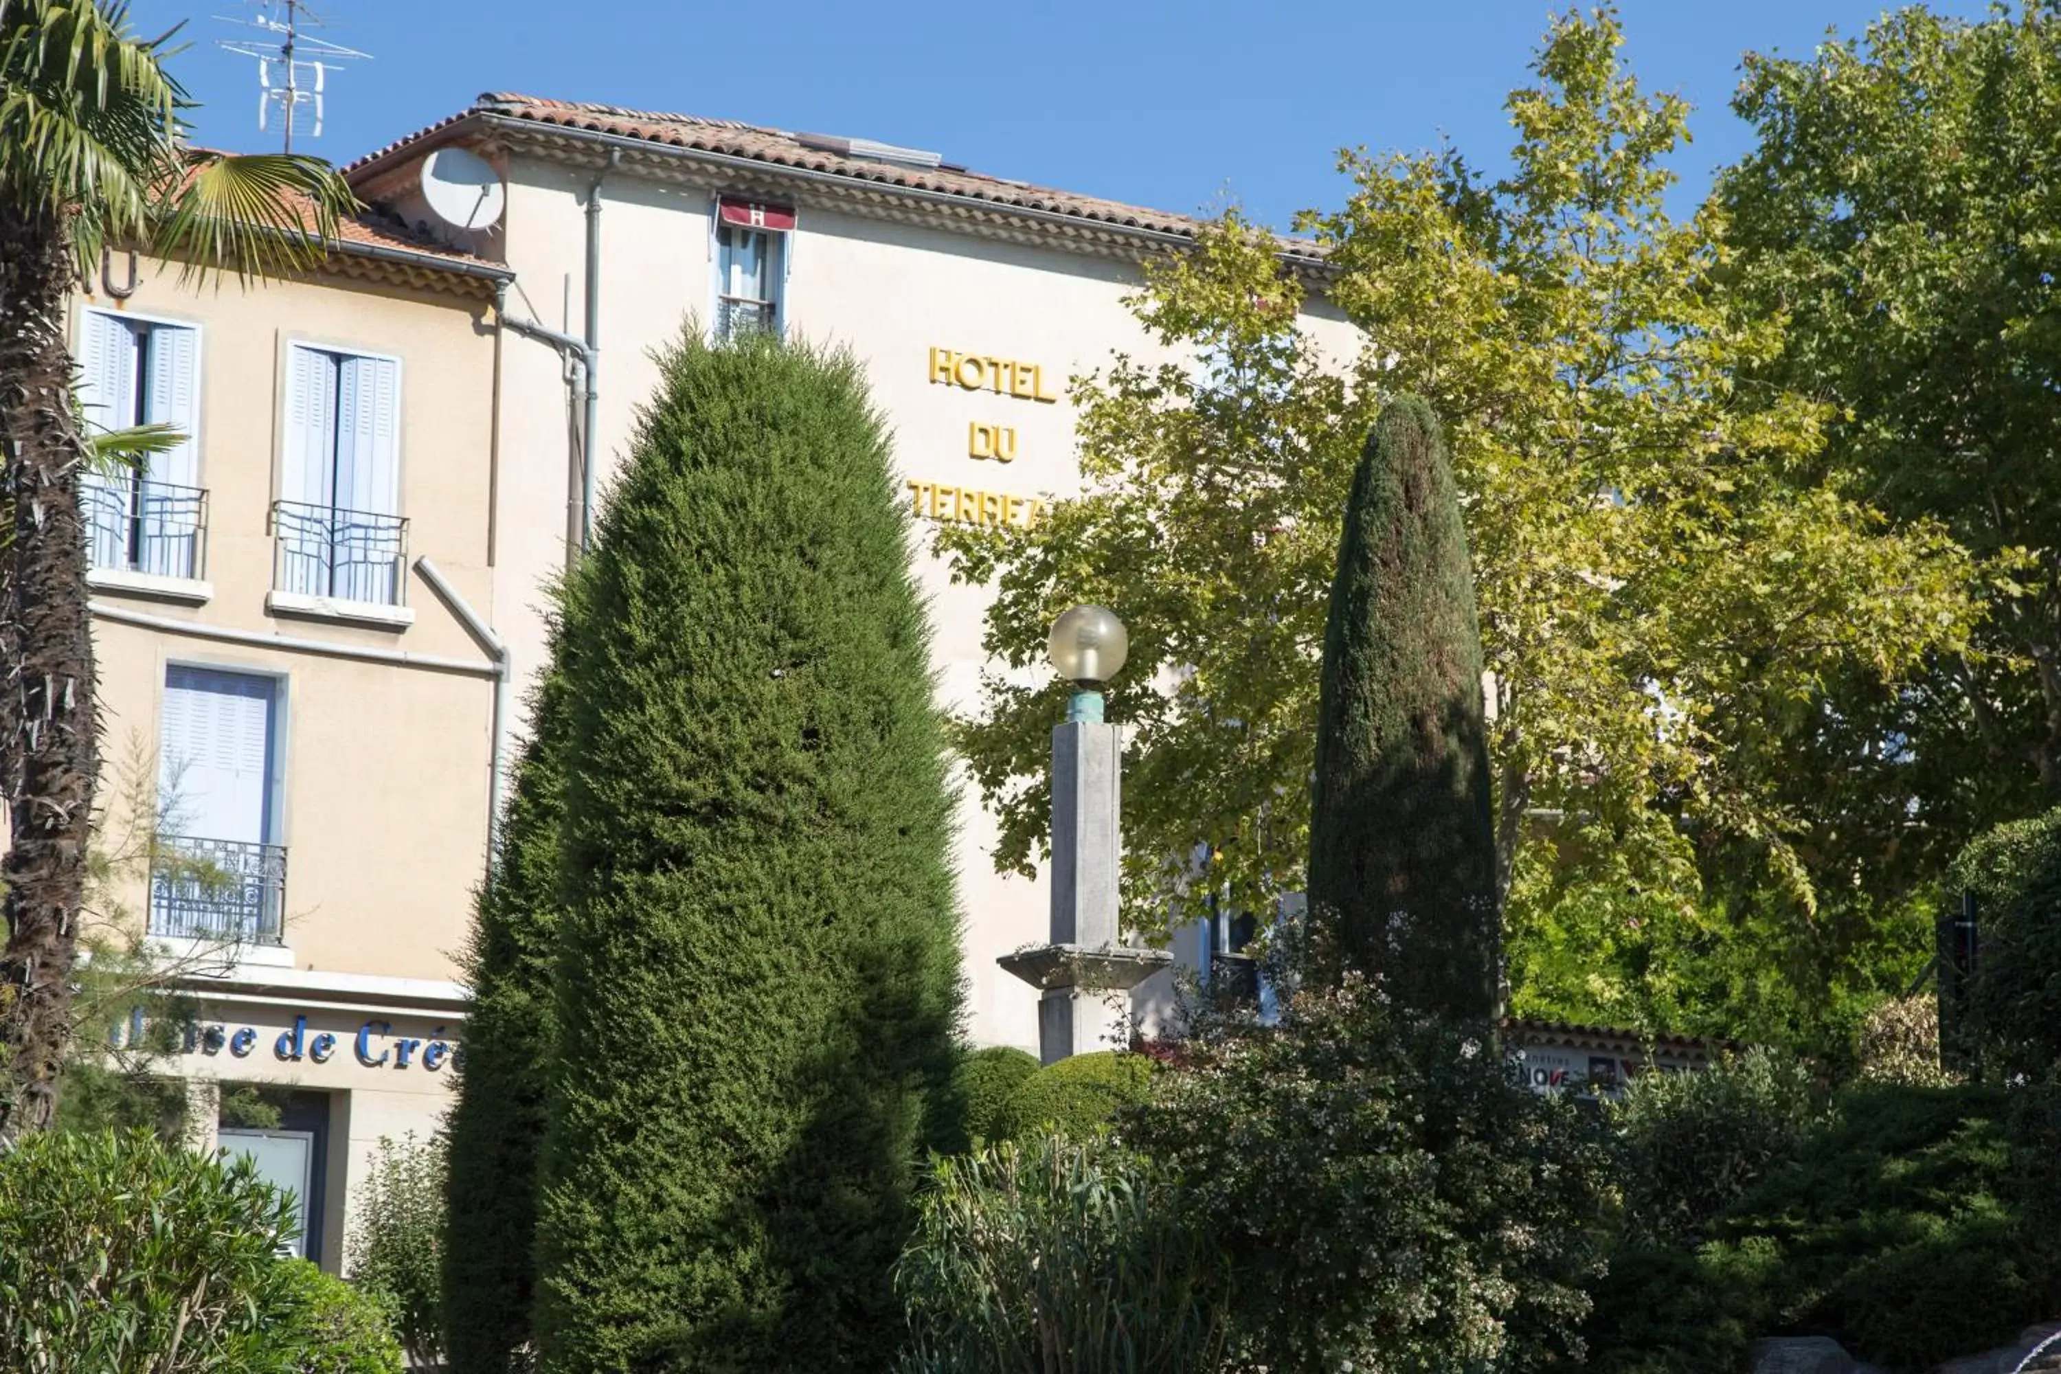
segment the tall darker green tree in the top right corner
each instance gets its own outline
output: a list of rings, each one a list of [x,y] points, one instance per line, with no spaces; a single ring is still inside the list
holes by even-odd
[[[1719,179],[1725,278],[1789,342],[1742,393],[1832,402],[1818,468],[1900,525],[1941,523],[1987,612],[1906,690],[1847,684],[1845,729],[1793,760],[1795,787],[1867,797],[1867,824],[1822,832],[1873,851],[1871,884],[1929,882],[1968,836],[2061,799],[2061,10],[1904,6],[1744,68],[1758,148]],[[1882,740],[1900,748],[1840,748]]]

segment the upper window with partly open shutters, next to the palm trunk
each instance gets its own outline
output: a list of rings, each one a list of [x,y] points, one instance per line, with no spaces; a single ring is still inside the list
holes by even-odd
[[[198,486],[200,330],[89,309],[80,315],[78,396],[93,433],[169,424],[177,447],[136,470],[80,484],[95,569],[200,579],[208,494]]]

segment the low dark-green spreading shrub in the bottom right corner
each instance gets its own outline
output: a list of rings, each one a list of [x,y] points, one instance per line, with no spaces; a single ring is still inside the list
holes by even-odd
[[[1760,1084],[1752,1079],[1760,1077]],[[2061,1304],[2061,1215],[2053,1096],[1983,1088],[1867,1086],[1785,1145],[1785,1160],[1737,1191],[1715,1215],[1671,1234],[1641,1226],[1610,1259],[1585,1327],[1591,1366],[1610,1374],[1717,1374],[1737,1368],[1750,1337],[1830,1335],[1890,1368],[1933,1364],[2007,1343]],[[1803,1100],[1787,1071],[1733,1069],[1727,1131],[1770,1158],[1746,1117],[1754,1102],[1797,1121]],[[1661,1106],[1659,1102],[1649,1104]],[[1694,1123],[1702,1112],[1674,1117]],[[1647,1152],[1680,1147],[1680,1131],[1643,1133]],[[1694,1143],[1690,1143],[1694,1147]],[[1721,1199],[1676,1174],[1676,1215]],[[1752,1170],[1748,1170],[1752,1172]],[[1634,1193],[1653,1176],[1645,1166]],[[1735,1166],[1731,1176],[1744,1178]],[[1659,1205],[1669,1205],[1659,1199]]]

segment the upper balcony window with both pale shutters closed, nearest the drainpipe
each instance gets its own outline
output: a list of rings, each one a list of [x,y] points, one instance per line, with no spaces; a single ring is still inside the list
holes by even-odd
[[[272,589],[400,606],[400,363],[291,344]]]

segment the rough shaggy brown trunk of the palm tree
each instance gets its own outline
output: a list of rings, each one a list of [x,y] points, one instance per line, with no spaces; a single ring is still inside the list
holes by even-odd
[[[70,286],[62,220],[0,204],[0,1145],[58,1108],[99,770]]]

